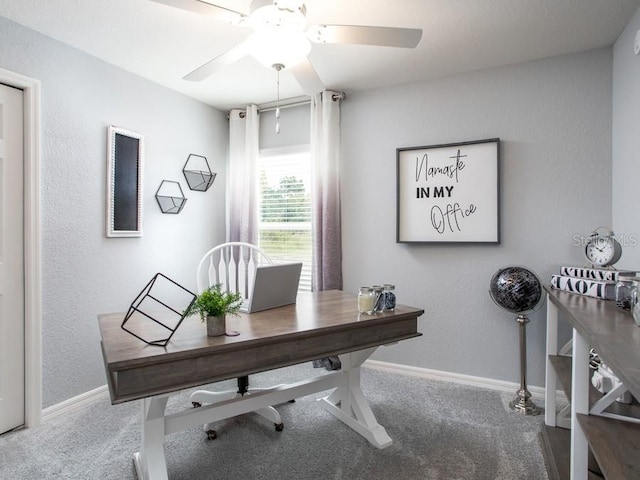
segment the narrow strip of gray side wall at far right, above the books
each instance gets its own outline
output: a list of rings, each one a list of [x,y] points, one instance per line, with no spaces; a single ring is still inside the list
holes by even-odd
[[[613,227],[623,246],[620,266],[640,270],[640,30],[636,11],[613,48]]]

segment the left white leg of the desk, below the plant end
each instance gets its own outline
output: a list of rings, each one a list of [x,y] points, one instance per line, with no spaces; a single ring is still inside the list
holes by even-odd
[[[142,446],[133,455],[138,480],[168,480],[167,461],[164,457],[164,411],[167,395],[143,398]]]

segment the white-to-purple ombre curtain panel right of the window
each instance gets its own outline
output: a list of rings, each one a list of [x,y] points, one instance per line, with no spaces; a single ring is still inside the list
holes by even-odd
[[[311,98],[314,291],[342,289],[340,98],[331,91]]]

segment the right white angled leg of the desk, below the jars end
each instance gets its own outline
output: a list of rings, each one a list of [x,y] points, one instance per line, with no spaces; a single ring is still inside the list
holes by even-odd
[[[340,355],[346,381],[321,401],[327,411],[369,440],[371,444],[378,448],[385,448],[391,445],[391,437],[376,420],[360,388],[360,366],[376,348]]]

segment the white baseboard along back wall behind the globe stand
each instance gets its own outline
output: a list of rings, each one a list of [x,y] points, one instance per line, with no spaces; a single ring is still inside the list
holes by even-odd
[[[383,372],[399,373],[402,375],[411,375],[430,380],[459,383],[462,385],[488,388],[490,390],[513,394],[515,394],[515,392],[520,388],[520,384],[514,382],[505,382],[503,380],[495,380],[493,378],[474,377],[471,375],[463,375],[461,373],[443,372],[441,370],[431,370],[429,368],[412,367],[410,365],[401,365],[398,363],[381,362],[379,360],[367,360],[363,366]],[[536,403],[539,405],[544,403],[544,387],[527,385],[527,390],[529,390],[531,397],[536,401]],[[556,398],[559,402],[567,401],[566,395],[560,390],[556,392]]]

